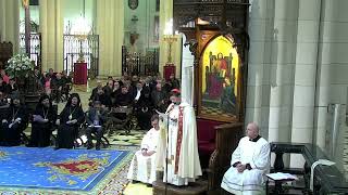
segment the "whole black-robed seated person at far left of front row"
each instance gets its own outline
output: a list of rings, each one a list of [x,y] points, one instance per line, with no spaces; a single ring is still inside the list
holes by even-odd
[[[25,105],[21,104],[20,96],[13,96],[8,112],[2,118],[1,145],[15,146],[21,144],[21,132],[25,129],[28,115]]]

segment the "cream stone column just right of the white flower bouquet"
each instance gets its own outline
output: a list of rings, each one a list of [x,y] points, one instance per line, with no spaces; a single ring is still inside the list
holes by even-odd
[[[63,70],[63,3],[62,0],[39,0],[42,70]]]

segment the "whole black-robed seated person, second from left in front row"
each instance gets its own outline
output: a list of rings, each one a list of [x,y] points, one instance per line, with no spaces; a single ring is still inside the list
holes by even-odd
[[[32,135],[28,146],[47,147],[50,145],[50,138],[53,125],[57,120],[57,110],[48,95],[40,98],[33,115]]]

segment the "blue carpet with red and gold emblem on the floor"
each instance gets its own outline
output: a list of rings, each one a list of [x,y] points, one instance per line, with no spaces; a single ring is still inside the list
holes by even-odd
[[[0,147],[3,194],[121,194],[128,151]]]

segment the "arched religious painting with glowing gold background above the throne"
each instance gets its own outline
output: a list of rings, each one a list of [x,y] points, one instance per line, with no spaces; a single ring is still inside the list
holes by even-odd
[[[238,115],[239,56],[232,37],[219,36],[206,47],[201,58],[199,115],[231,121]]]

